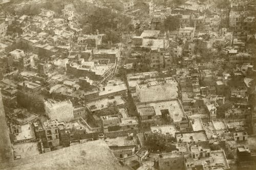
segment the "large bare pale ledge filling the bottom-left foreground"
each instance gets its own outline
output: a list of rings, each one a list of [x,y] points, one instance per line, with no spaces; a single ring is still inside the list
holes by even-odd
[[[17,159],[13,163],[0,164],[6,170],[20,169],[120,169],[122,166],[103,140],[72,145],[33,157]]]

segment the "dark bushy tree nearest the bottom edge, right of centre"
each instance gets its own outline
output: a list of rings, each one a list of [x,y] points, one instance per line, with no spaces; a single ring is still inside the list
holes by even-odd
[[[176,150],[173,145],[175,138],[173,135],[163,135],[159,133],[150,133],[146,136],[145,145],[150,151],[166,151],[171,152]]]

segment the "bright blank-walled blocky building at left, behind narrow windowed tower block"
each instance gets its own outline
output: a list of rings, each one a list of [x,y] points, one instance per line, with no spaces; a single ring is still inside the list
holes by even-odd
[[[70,101],[45,101],[46,115],[51,120],[70,122],[74,119],[74,108]]]

